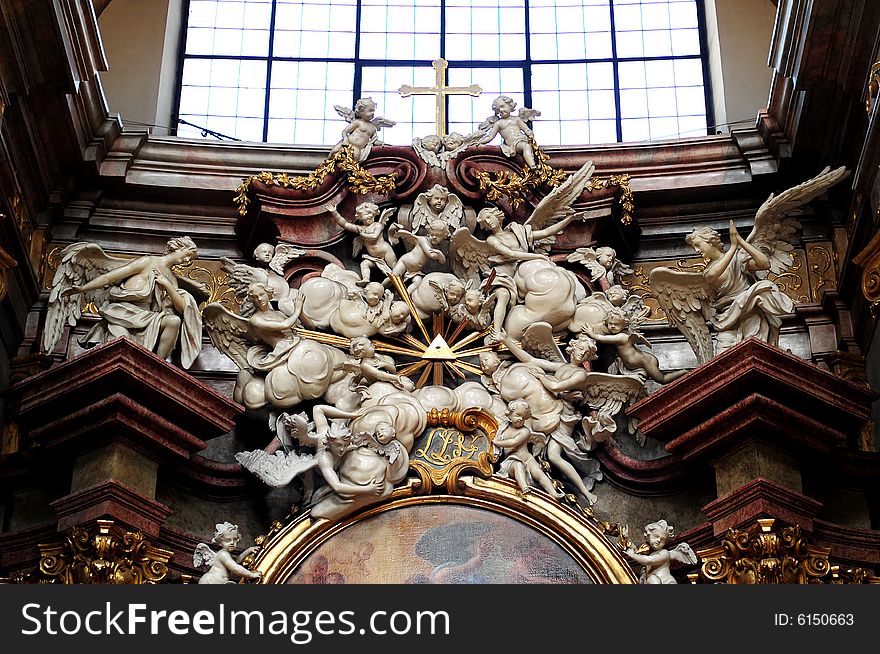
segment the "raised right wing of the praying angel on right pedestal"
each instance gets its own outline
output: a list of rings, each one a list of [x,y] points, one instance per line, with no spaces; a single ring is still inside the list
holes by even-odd
[[[844,166],[834,170],[826,166],[821,173],[802,184],[779,195],[771,193],[760,206],[755,214],[755,225],[746,240],[767,253],[771,272],[785,272],[791,265],[788,253],[794,247],[796,230],[801,225],[788,214],[848,176],[849,171]]]

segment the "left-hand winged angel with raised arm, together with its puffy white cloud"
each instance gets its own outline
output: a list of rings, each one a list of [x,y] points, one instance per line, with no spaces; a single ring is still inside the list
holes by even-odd
[[[294,332],[304,296],[297,296],[291,316],[272,309],[272,290],[259,282],[248,289],[254,313],[248,318],[212,302],[205,307],[205,328],[214,346],[239,367],[233,399],[258,410],[281,409],[303,400],[329,396],[336,399],[345,387],[345,373],[337,369],[346,355],[329,345],[301,339]],[[336,391],[331,392],[331,386]]]

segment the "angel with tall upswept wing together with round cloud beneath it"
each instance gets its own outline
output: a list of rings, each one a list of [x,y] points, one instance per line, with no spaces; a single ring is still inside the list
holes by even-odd
[[[477,215],[480,226],[489,234],[485,241],[464,227],[452,235],[449,251],[453,272],[478,284],[480,273],[490,276],[486,292],[494,292],[497,298],[493,340],[499,340],[505,330],[518,338],[534,322],[548,322],[554,331],[565,329],[571,322],[577,298],[585,291],[574,273],[551,262],[545,252],[556,234],[579,217],[571,205],[594,169],[592,162],[584,164],[548,193],[524,224],[503,225],[504,214],[487,208]],[[520,299],[522,304],[517,304]]]

